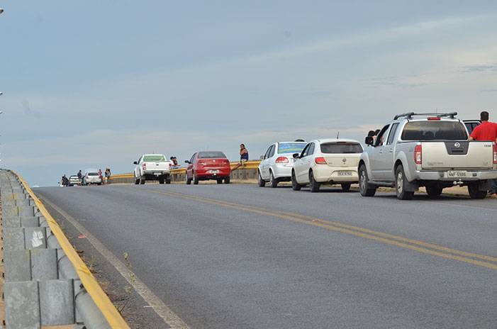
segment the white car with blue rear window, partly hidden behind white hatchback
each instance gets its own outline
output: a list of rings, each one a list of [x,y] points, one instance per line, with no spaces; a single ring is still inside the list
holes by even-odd
[[[269,145],[259,164],[259,186],[264,187],[269,182],[271,187],[277,187],[279,182],[291,181],[293,154],[301,153],[306,145],[305,142],[278,142]]]

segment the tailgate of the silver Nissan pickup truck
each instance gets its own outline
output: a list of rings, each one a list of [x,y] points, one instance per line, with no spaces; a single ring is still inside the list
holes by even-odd
[[[467,140],[423,142],[423,169],[492,169],[493,143]]]

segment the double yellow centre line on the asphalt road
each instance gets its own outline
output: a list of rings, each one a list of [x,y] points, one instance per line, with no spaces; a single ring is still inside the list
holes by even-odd
[[[395,245],[397,247],[402,247],[408,250],[414,250],[428,255],[433,255],[437,257],[442,257],[449,260],[458,260],[460,262],[467,262],[469,264],[474,264],[480,267],[486,267],[489,269],[497,269],[497,264],[492,262],[497,262],[497,257],[491,257],[486,255],[479,255],[472,252],[464,252],[461,250],[454,250],[448,247],[442,247],[440,245],[434,245],[432,243],[423,242],[419,240],[413,240],[409,238],[403,238],[399,235],[393,235],[389,233],[378,232],[375,230],[369,230],[367,228],[360,228],[358,226],[348,225],[344,223],[339,223],[336,221],[323,221],[320,218],[313,218],[311,216],[303,216],[294,213],[284,213],[280,211],[270,211],[265,208],[259,208],[255,206],[246,206],[240,203],[233,203],[228,201],[220,201],[216,199],[204,198],[201,196],[191,196],[187,194],[181,194],[176,192],[164,192],[164,191],[149,191],[150,193],[163,194],[167,196],[175,196],[182,199],[190,199],[194,201],[201,201],[203,203],[211,203],[218,206],[224,206],[227,208],[236,208],[240,210],[250,211],[252,213],[258,213],[264,216],[272,216],[277,218],[286,219],[288,221],[293,221],[296,223],[303,223],[308,225],[318,226],[320,228],[325,228],[327,230],[333,230],[335,232],[347,233],[350,235],[355,235],[360,238],[366,238],[369,240],[375,240],[377,242],[383,242],[387,245]],[[471,257],[471,258],[469,258]],[[476,258],[473,259],[473,258]],[[484,262],[482,260],[486,260]]]

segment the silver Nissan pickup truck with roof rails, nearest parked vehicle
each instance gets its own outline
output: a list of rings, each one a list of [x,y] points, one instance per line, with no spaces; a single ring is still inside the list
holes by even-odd
[[[359,160],[359,191],[374,196],[378,186],[395,187],[397,198],[413,198],[420,186],[439,196],[449,186],[468,186],[472,199],[484,199],[497,178],[497,147],[469,141],[457,113],[404,113],[382,128]]]

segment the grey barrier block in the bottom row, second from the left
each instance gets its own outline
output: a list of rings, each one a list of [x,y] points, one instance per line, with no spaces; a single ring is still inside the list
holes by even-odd
[[[73,289],[72,280],[40,281],[42,325],[69,325],[75,322]]]

